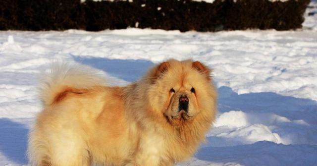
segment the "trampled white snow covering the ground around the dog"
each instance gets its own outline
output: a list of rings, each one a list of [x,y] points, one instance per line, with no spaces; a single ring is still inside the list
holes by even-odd
[[[317,166],[317,3],[297,31],[0,31],[0,166],[27,165],[36,87],[53,60],[102,70],[113,85],[168,58],[201,60],[218,87],[217,121],[178,166]]]

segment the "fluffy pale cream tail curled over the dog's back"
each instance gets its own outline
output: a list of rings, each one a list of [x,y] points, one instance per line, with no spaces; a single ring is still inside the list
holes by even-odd
[[[43,76],[40,86],[40,98],[44,106],[55,102],[56,97],[67,89],[88,89],[106,85],[100,72],[82,64],[54,62],[49,74]]]

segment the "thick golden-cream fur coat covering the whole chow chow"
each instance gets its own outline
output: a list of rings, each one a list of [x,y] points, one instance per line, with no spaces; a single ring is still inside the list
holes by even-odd
[[[210,72],[198,61],[171,59],[135,83],[109,87],[89,67],[53,67],[40,93],[44,110],[29,137],[30,162],[173,166],[184,161],[214,120],[216,91]],[[179,111],[184,95],[188,111]]]

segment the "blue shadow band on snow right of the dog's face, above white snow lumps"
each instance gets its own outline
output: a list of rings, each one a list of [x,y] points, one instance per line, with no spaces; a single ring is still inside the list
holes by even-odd
[[[238,95],[230,87],[218,88],[218,111],[273,112],[277,115],[303,119],[315,123],[317,119],[317,101],[283,96],[272,92],[248,93]],[[299,115],[299,111],[305,111]]]

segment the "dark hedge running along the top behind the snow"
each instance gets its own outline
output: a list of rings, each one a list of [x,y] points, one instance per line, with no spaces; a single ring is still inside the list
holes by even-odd
[[[236,1],[236,2],[234,2]],[[127,27],[182,32],[301,28],[310,0],[0,0],[0,30],[101,31]],[[143,6],[142,6],[143,4]],[[145,6],[144,6],[145,4]],[[158,10],[158,7],[161,7]]]

